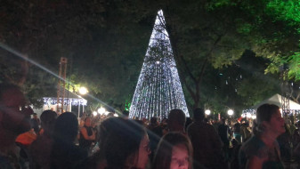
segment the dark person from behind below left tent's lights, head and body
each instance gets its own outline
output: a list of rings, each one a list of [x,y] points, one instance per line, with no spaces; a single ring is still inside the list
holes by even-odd
[[[74,144],[77,133],[78,121],[73,113],[62,113],[56,119],[53,131],[51,168],[74,168],[82,160],[85,160],[87,153]]]

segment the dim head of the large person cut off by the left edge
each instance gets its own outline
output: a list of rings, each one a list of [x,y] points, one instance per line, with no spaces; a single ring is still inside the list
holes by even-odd
[[[30,114],[25,108],[26,100],[20,87],[14,84],[0,84],[0,129],[19,135],[31,128]]]

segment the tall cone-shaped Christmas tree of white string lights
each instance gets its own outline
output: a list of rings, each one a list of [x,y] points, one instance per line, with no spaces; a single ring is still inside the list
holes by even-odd
[[[163,12],[158,11],[150,43],[135,88],[129,117],[167,117],[171,109],[189,116]]]

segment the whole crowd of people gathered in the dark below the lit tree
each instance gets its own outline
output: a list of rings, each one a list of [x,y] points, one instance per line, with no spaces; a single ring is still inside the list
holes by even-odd
[[[149,120],[124,111],[98,125],[86,116],[82,126],[72,112],[45,110],[39,119],[25,105],[18,86],[0,84],[1,169],[280,169],[300,161],[299,126],[285,123],[272,104],[256,110],[253,124],[212,122],[198,108],[192,118],[172,109]]]

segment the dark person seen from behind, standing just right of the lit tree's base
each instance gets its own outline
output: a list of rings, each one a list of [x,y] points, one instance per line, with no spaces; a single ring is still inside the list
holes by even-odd
[[[227,168],[224,164],[223,143],[213,125],[204,122],[204,109],[193,111],[194,122],[188,127],[188,135],[194,149],[194,168],[202,165],[210,169]]]

